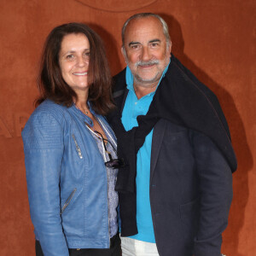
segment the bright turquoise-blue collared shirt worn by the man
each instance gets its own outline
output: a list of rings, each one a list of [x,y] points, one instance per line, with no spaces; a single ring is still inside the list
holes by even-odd
[[[162,73],[160,81],[165,76],[169,65],[170,62],[166,69],[164,70],[164,72]],[[131,73],[131,69],[128,66],[126,67],[126,84],[129,92],[126,97],[125,107],[123,109],[121,120],[125,127],[125,131],[129,131],[133,127],[137,126],[137,116],[145,115],[148,112],[148,108],[153,100],[155,91],[149,93],[146,96],[143,96],[138,100],[133,88],[133,75]],[[140,148],[139,151],[137,152],[136,185],[138,234],[135,236],[131,236],[131,238],[148,242],[155,242],[154,228],[149,201],[149,178],[152,137],[153,129],[148,133],[148,136],[145,138],[143,147]]]

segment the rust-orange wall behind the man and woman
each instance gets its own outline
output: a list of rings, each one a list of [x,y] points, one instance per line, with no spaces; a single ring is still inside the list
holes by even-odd
[[[223,253],[256,255],[255,0],[0,0],[0,255],[34,255],[20,132],[38,96],[38,60],[55,26],[77,21],[104,40],[112,74],[125,67],[121,27],[161,15],[172,53],[215,92],[230,125],[238,169]],[[210,256],[210,255],[209,255]]]

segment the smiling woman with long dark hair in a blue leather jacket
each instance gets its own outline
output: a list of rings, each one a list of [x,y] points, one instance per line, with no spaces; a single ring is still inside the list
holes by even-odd
[[[120,255],[120,162],[102,118],[113,108],[111,76],[96,32],[79,23],[55,27],[39,89],[39,106],[22,131],[36,253]]]

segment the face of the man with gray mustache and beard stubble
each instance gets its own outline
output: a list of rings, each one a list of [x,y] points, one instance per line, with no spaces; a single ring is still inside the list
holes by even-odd
[[[134,84],[155,87],[171,56],[160,20],[154,17],[131,20],[125,31],[122,50],[134,75]]]

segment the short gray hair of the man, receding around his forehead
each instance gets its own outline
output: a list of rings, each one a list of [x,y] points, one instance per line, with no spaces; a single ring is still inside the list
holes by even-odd
[[[154,15],[154,14],[151,14],[151,13],[141,13],[141,14],[137,14],[137,15],[132,15],[128,20],[125,21],[125,24],[124,24],[124,26],[122,28],[122,44],[123,44],[122,47],[123,48],[125,46],[125,31],[126,31],[126,27],[130,23],[130,21],[131,20],[139,20],[139,19],[148,18],[148,17],[154,17],[154,18],[160,20],[160,23],[163,26],[164,35],[166,37],[166,43],[168,45],[171,44],[171,38],[170,38],[170,35],[169,35],[168,25],[167,25],[166,21],[162,17],[160,17],[160,15]]]

